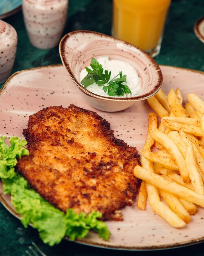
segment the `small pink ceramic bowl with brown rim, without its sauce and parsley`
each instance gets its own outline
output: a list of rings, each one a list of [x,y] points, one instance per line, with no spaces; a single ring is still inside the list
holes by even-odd
[[[66,34],[59,43],[61,61],[77,88],[88,103],[102,111],[116,112],[129,108],[137,101],[148,99],[158,92],[163,77],[158,64],[142,49],[122,40],[94,31],[79,30]],[[141,79],[141,90],[134,97],[105,97],[88,91],[80,83],[80,72],[90,65],[91,58],[109,59],[131,64]]]

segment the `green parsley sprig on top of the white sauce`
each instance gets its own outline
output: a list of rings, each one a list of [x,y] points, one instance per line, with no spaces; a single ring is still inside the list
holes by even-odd
[[[125,93],[132,95],[129,87],[124,84],[126,83],[127,76],[123,75],[122,71],[110,80],[111,71],[108,72],[108,70],[105,70],[103,73],[103,66],[95,58],[91,59],[90,66],[92,70],[86,67],[88,74],[81,80],[81,84],[84,88],[96,83],[98,86],[103,86],[103,91],[107,92],[108,96],[123,96]]]

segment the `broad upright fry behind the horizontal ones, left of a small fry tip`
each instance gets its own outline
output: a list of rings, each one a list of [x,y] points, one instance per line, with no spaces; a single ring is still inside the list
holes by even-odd
[[[173,89],[170,90],[167,99],[169,107],[176,117],[188,117]]]

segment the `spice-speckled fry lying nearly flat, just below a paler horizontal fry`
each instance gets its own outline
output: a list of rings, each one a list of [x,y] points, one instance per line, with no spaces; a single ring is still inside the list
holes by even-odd
[[[193,124],[183,124],[183,123],[167,120],[165,118],[164,119],[162,118],[162,124],[176,131],[183,130],[184,132],[193,134],[195,136],[202,136],[201,128]]]

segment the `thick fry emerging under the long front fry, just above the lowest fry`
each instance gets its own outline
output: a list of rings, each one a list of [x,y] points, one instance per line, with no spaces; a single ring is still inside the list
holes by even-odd
[[[180,202],[178,197],[168,193],[162,189],[159,189],[159,194],[168,204],[169,208],[175,212],[184,222],[189,223],[191,220],[191,216],[188,211],[186,211],[183,204]]]

